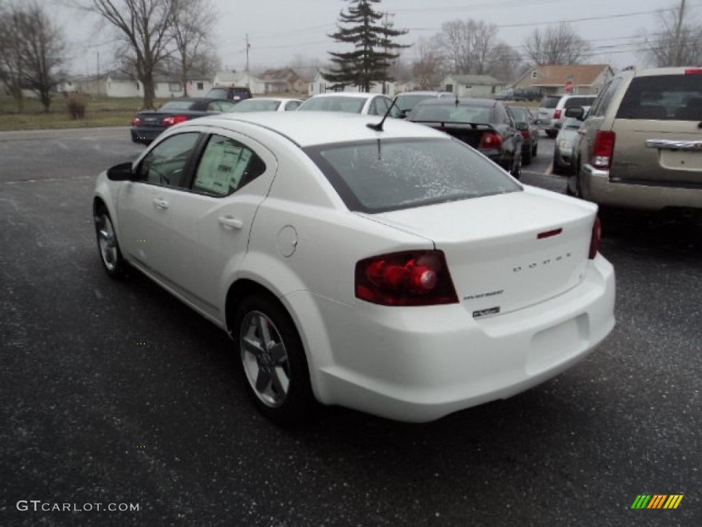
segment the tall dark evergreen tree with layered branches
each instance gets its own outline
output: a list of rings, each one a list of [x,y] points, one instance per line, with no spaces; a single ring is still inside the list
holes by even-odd
[[[324,79],[335,86],[355,84],[364,91],[371,91],[373,82],[386,82],[393,79],[388,75],[390,63],[399,57],[394,50],[406,48],[392,41],[394,37],[406,34],[407,30],[392,29],[385,15],[373,10],[373,4],[381,0],[346,0],[351,6],[347,12],[339,13],[336,33],[329,37],[337,42],[352,44],[353,51],[333,53],[331,62],[336,65],[324,74]]]

